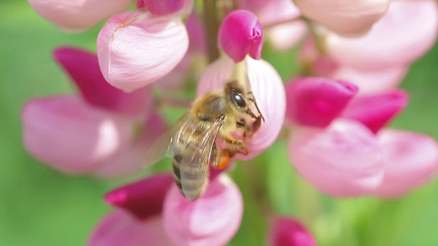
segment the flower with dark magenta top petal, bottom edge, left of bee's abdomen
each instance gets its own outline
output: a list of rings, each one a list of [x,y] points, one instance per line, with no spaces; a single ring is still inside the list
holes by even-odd
[[[88,245],[172,245],[162,219],[172,185],[171,175],[159,174],[107,193],[105,200],[116,209],[96,226]]]

